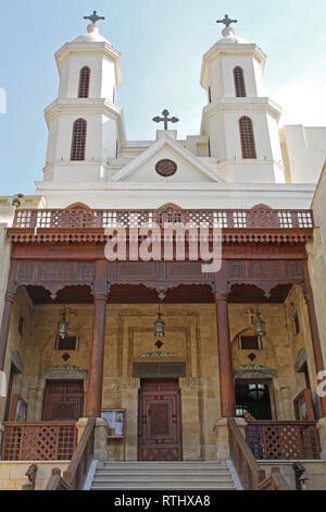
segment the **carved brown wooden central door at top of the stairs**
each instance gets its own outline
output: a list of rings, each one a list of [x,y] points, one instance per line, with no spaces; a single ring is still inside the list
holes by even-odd
[[[180,391],[177,380],[141,381],[138,460],[183,460]]]

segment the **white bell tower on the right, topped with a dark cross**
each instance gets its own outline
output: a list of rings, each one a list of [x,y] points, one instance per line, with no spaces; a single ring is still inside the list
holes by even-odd
[[[264,94],[266,56],[235,35],[227,14],[223,38],[203,57],[208,92],[201,134],[209,136],[217,172],[231,183],[285,183],[278,135],[280,108]]]

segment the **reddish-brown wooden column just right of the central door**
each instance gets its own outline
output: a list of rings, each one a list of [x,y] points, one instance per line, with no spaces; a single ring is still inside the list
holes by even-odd
[[[223,290],[223,291],[221,291]],[[228,321],[228,294],[226,292],[226,265],[215,277],[214,300],[216,304],[217,348],[220,368],[221,416],[236,416],[236,392],[234,379],[233,353]]]

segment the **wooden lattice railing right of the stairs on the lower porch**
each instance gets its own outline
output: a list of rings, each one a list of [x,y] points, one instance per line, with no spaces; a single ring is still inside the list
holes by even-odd
[[[255,459],[319,459],[316,422],[249,422],[247,442]]]

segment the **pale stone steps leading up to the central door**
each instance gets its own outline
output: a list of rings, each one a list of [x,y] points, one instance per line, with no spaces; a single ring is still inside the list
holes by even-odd
[[[90,490],[236,490],[240,486],[226,462],[106,462],[90,475]]]

